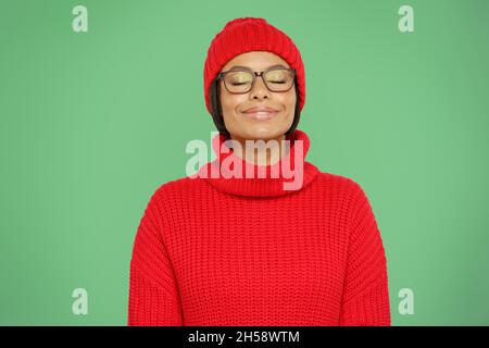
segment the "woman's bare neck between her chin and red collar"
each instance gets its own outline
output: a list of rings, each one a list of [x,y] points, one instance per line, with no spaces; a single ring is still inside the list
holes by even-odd
[[[285,156],[281,146],[286,139],[284,134],[269,139],[244,139],[231,135],[231,139],[240,145],[233,149],[234,153],[255,165],[274,165]]]

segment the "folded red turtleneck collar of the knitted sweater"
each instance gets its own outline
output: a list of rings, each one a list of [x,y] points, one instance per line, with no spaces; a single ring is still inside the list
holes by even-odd
[[[286,152],[272,165],[246,161],[234,153],[226,140],[224,134],[212,138],[216,159],[197,173],[220,191],[244,197],[290,195],[304,189],[319,173],[315,165],[305,161],[310,139],[303,130],[296,129],[286,136],[285,140],[289,140],[283,145]]]

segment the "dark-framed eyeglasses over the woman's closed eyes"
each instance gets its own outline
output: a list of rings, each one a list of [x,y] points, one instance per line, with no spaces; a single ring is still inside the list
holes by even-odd
[[[224,86],[230,94],[247,94],[253,89],[256,76],[262,77],[266,88],[271,91],[288,91],[292,88],[296,70],[288,67],[271,67],[264,72],[253,72],[239,67],[221,72],[215,78],[223,79]]]

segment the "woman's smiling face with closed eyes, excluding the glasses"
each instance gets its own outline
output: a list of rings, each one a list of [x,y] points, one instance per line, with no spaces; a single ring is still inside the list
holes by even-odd
[[[239,54],[221,70],[246,66],[253,72],[263,72],[274,65],[290,67],[280,57],[266,51]],[[220,97],[224,124],[233,139],[281,139],[293,122],[296,109],[296,86],[287,91],[271,91],[259,76],[253,88],[246,94],[231,94],[223,78],[220,80]],[[273,88],[275,89],[275,88]],[[263,109],[272,112],[263,112]],[[253,112],[261,109],[262,112]]]

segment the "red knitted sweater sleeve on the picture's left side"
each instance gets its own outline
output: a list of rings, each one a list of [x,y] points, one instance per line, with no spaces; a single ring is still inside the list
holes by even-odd
[[[180,326],[177,282],[159,225],[156,194],[148,203],[133,247],[127,324]]]

